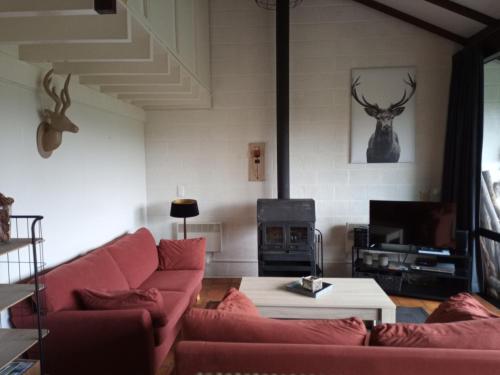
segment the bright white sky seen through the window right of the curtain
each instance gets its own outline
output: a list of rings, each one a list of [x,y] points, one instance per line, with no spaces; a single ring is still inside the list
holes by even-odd
[[[500,62],[493,60],[484,70],[483,170],[500,181]]]

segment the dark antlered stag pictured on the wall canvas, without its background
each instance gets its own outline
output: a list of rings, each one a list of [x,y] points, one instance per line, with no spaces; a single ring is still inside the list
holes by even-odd
[[[366,161],[368,163],[397,163],[401,154],[401,146],[397,133],[394,131],[392,121],[394,117],[399,116],[405,110],[404,105],[415,94],[417,83],[415,79],[408,74],[408,80],[404,82],[410,86],[411,91],[408,95],[406,90],[403,97],[398,102],[391,104],[388,108],[380,108],[378,104],[372,104],[366,100],[364,95],[359,97],[356,89],[361,84],[360,77],[356,78],[351,86],[351,94],[356,102],[364,109],[368,116],[377,120],[375,132],[368,141],[366,150]]]

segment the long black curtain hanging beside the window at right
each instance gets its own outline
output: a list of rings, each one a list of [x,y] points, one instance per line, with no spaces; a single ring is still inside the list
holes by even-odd
[[[442,200],[457,205],[457,229],[469,232],[469,251],[474,260],[474,292],[482,291],[478,211],[483,145],[483,75],[481,48],[465,48],[453,56],[442,186]]]

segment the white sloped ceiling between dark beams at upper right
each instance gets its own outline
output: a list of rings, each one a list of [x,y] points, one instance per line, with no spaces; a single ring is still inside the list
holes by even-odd
[[[378,0],[379,3],[407,13],[462,37],[470,37],[486,25],[425,0]],[[500,18],[500,0],[454,0],[455,3]]]

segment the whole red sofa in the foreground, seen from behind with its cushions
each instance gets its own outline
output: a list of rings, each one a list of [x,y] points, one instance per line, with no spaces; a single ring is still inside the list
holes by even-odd
[[[242,293],[227,296],[217,311],[195,308],[185,315],[176,375],[500,374],[500,317],[470,295],[441,304],[432,323],[383,324],[370,333],[357,318],[263,318]]]

